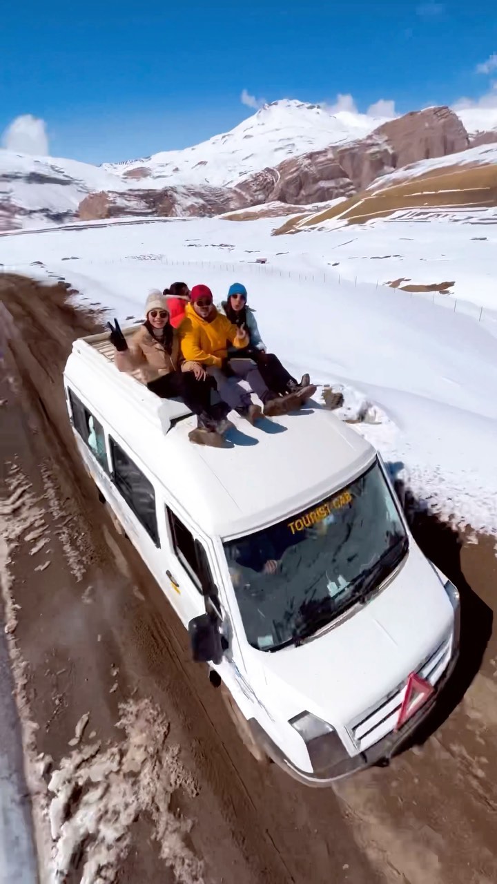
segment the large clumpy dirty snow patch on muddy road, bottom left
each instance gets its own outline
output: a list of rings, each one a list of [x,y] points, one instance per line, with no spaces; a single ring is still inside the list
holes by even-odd
[[[170,809],[172,793],[197,794],[195,781],[168,742],[169,724],[149,700],[119,706],[124,739],[103,749],[74,750],[51,773],[53,871],[64,881],[78,859],[80,884],[111,884],[130,848],[130,829],[147,814],[164,865],[179,884],[203,884],[203,865],[187,847],[191,823]]]

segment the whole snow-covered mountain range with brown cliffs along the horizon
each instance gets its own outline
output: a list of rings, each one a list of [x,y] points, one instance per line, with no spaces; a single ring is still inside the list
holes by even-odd
[[[287,204],[290,213],[354,196],[424,157],[492,141],[497,109],[456,116],[431,108],[385,120],[284,100],[209,141],[124,164],[0,149],[0,230],[123,215],[212,216],[267,202]]]

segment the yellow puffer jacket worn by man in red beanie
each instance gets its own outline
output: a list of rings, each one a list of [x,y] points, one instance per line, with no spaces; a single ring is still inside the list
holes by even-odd
[[[188,362],[201,362],[202,365],[220,368],[227,356],[228,343],[238,348],[247,346],[246,340],[236,337],[238,329],[227,316],[216,310],[214,319],[207,322],[195,313],[191,304],[187,304],[179,331],[181,352]]]

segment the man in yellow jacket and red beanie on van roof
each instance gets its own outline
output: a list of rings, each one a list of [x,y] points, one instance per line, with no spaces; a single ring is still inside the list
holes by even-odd
[[[240,384],[230,383],[225,370],[228,345],[232,344],[239,350],[247,347],[250,340],[248,331],[243,326],[233,325],[227,316],[218,312],[208,286],[194,286],[190,298],[185,319],[180,325],[183,356],[203,365],[210,377],[215,379],[221,399],[254,423],[262,415],[261,408],[252,403],[250,394]],[[296,396],[279,399],[271,392],[251,359],[233,361],[232,375],[237,380],[248,381],[251,390],[264,404],[264,415],[285,414],[299,404]]]

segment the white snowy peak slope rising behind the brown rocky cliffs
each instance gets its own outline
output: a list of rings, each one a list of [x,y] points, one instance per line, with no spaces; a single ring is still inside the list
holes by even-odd
[[[386,118],[348,111],[331,114],[317,104],[286,99],[264,105],[231,132],[195,147],[164,151],[133,163],[106,164],[105,169],[125,177],[135,170],[144,170],[141,179],[128,179],[130,187],[222,187],[267,166],[278,165],[290,156],[363,138],[383,123]]]

